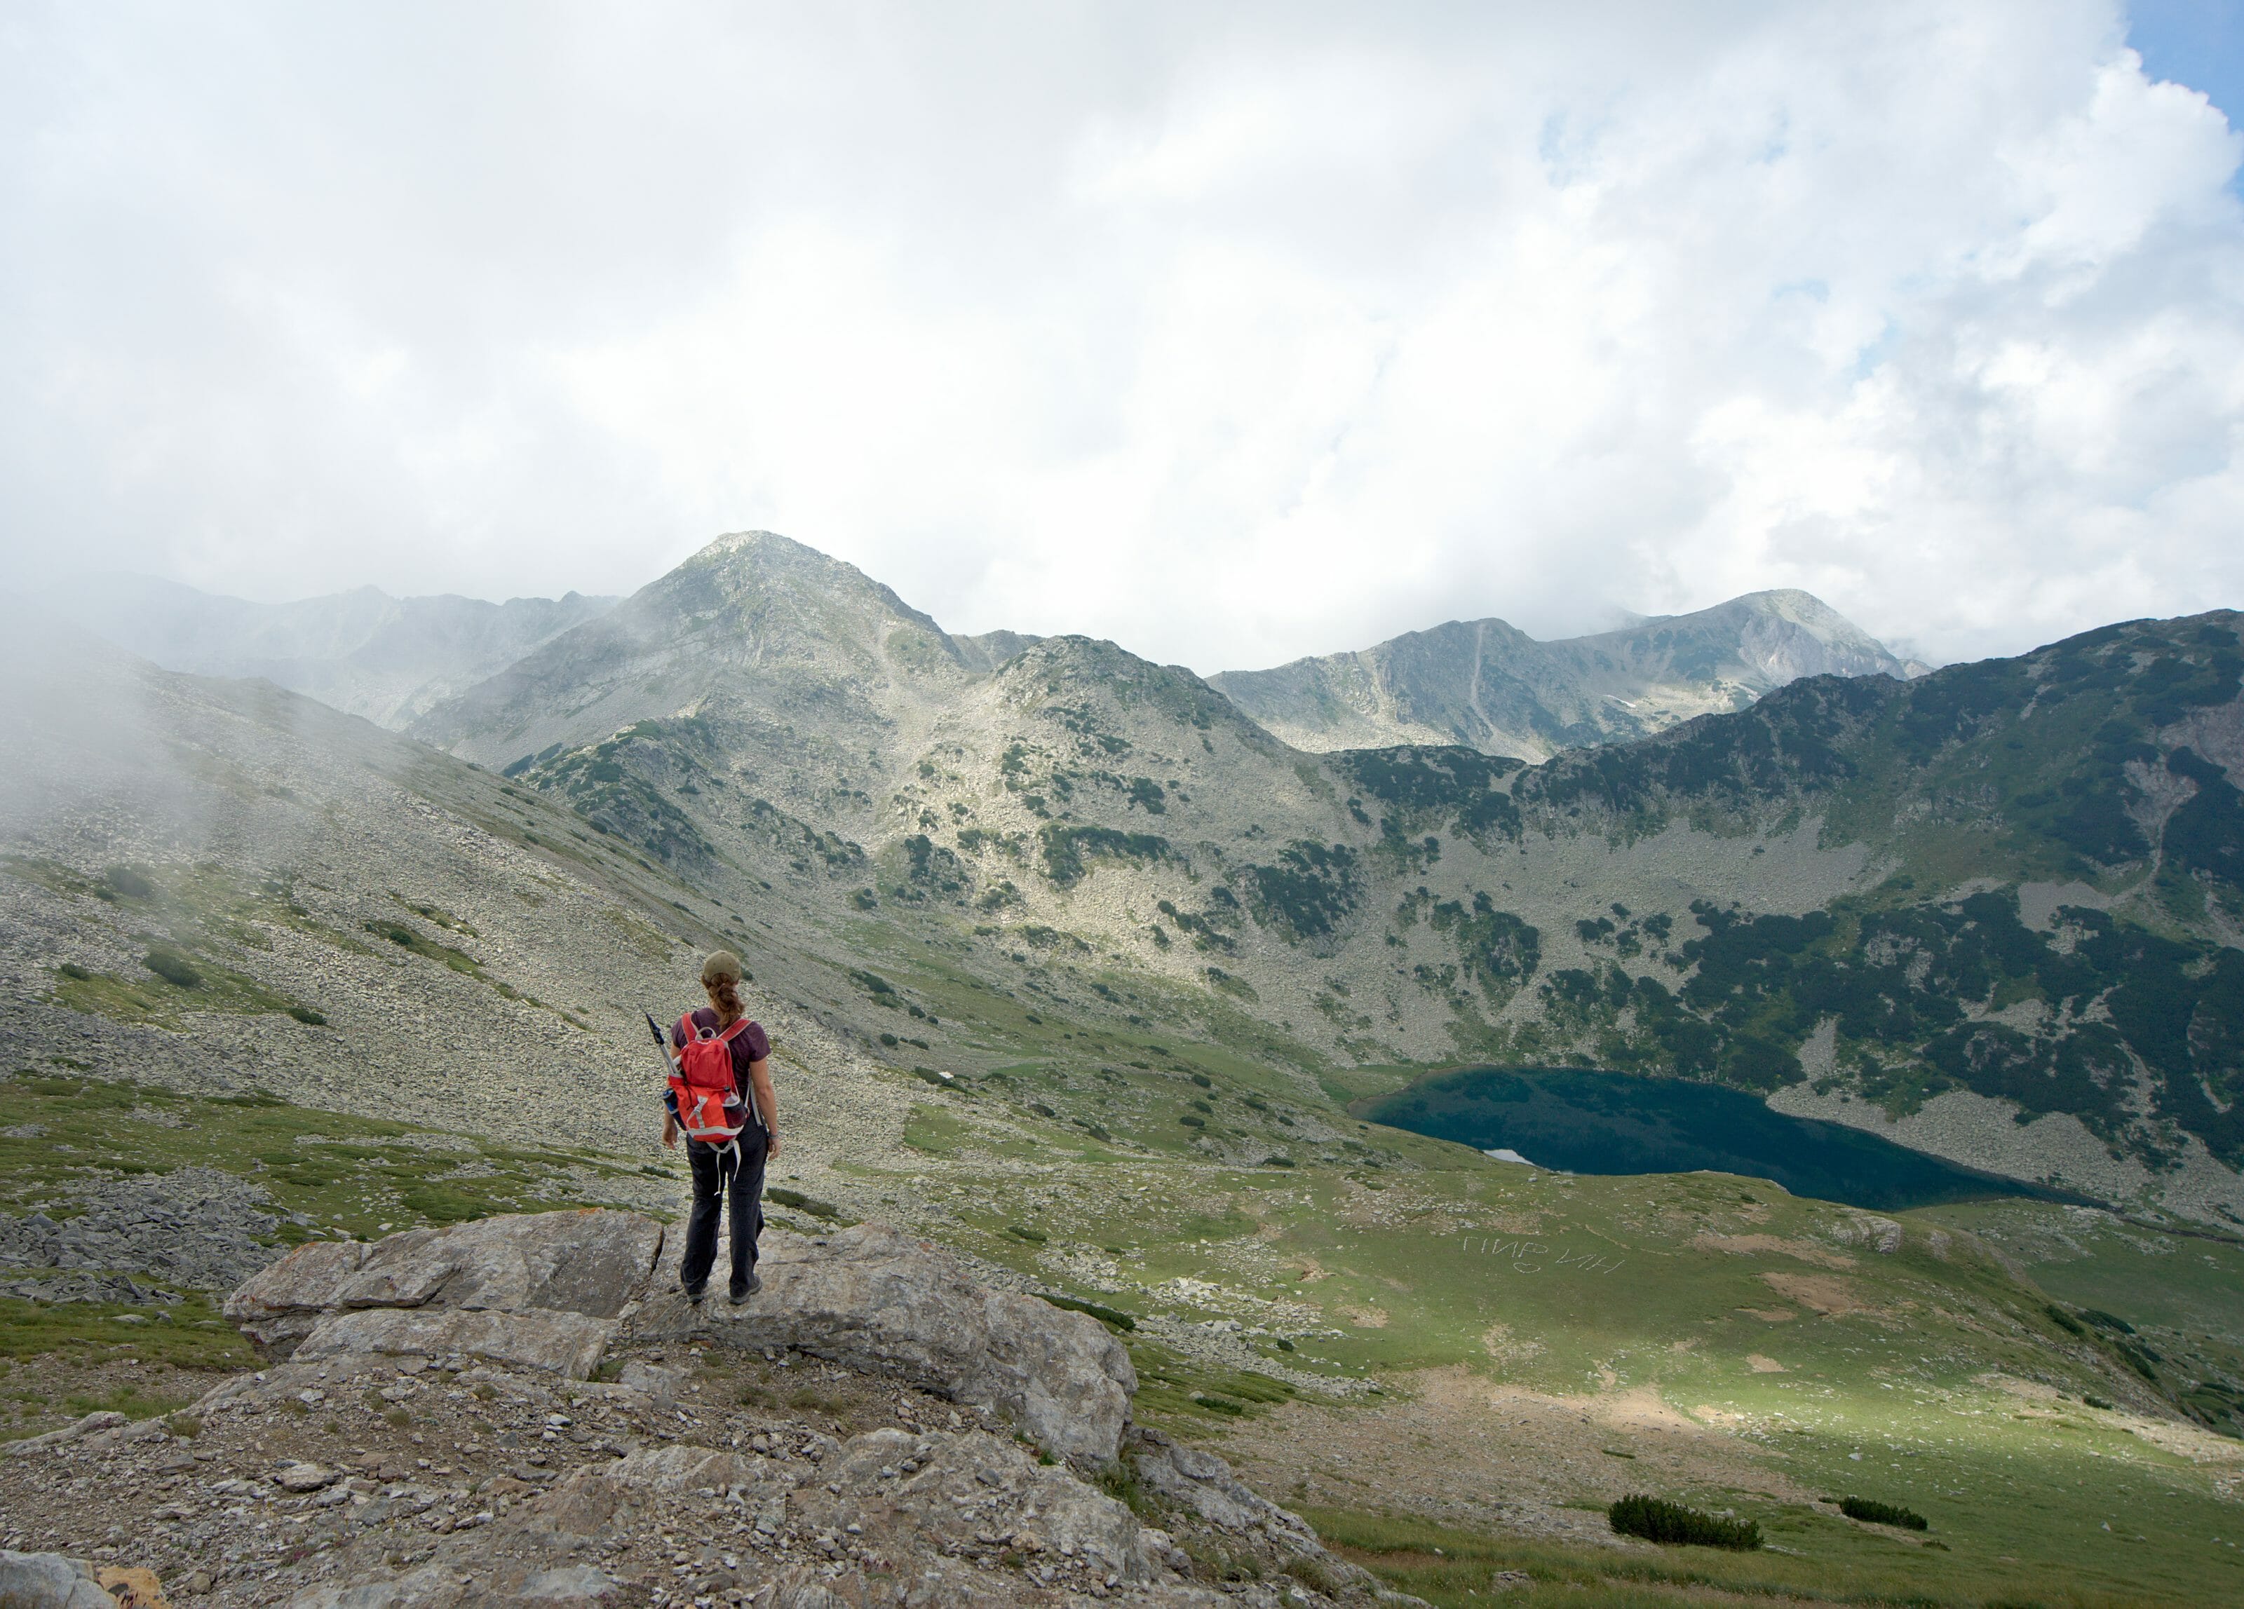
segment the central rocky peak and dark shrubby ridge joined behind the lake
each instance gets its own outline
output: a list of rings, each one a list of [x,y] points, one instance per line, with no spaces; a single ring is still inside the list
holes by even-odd
[[[1876,644],[1809,604],[1539,646],[1674,678],[1744,662],[1782,617],[1806,633],[1788,653],[1867,664]],[[1732,658],[1701,653],[1723,631]],[[873,1059],[1160,1068],[1201,1046],[1324,1106],[1407,1068],[1604,1066],[2244,1221],[2240,669],[2237,615],[2215,613],[1914,680],[1804,675],[1539,765],[1308,752],[1185,669],[951,637],[853,566],[741,534],[411,736],[500,774],[489,797],[447,783],[485,799],[478,830],[669,886]],[[622,1032],[615,1005],[579,1014]],[[1102,1122],[1088,1093],[1068,1111]]]

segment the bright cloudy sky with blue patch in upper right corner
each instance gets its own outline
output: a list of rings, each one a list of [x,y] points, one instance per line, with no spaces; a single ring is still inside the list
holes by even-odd
[[[725,530],[1201,671],[2244,606],[2215,0],[0,9],[0,572]]]

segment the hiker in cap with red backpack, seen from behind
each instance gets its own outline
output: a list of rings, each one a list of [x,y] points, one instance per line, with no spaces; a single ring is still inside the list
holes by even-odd
[[[741,958],[718,949],[702,963],[709,1003],[671,1026],[671,1088],[664,1097],[662,1144],[687,1136],[693,1169],[693,1216],[678,1284],[687,1302],[709,1293],[716,1266],[716,1221],[732,1192],[732,1290],[747,1302],[763,1232],[763,1167],[779,1158],[779,1102],[772,1097],[772,1041],[741,1005]],[[729,1079],[729,1082],[727,1082]]]

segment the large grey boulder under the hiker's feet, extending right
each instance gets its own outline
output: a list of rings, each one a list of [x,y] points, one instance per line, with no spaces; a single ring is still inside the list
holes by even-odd
[[[707,1331],[734,1346],[788,1346],[1003,1412],[1079,1468],[1115,1461],[1138,1373],[1106,1326],[1037,1297],[976,1284],[929,1241],[859,1223],[835,1234],[767,1230],[763,1290],[700,1308],[657,1293],[640,1333]]]

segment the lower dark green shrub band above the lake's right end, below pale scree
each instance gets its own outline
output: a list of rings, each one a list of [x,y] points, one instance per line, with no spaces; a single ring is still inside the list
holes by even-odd
[[[1744,916],[1696,902],[1694,965],[1670,990],[1618,960],[1542,983],[1546,1023],[1521,1059],[1589,1039],[1604,1066],[1768,1093],[1797,1084],[1797,1050],[1838,1023],[1838,1064],[1858,1088],[1912,1106],[1946,1088],[2069,1111],[2152,1165],[2179,1160],[2132,1109],[2139,1059],[2152,1118],[2244,1160],[2244,951],[2168,938],[2105,911],[2064,907],[2049,931],[2011,891],[1880,907],[1840,900],[1806,916]],[[1966,1017],[2033,1001],[2033,1028]]]

